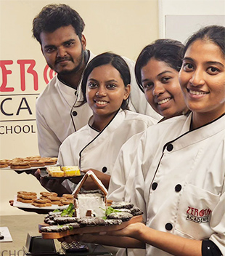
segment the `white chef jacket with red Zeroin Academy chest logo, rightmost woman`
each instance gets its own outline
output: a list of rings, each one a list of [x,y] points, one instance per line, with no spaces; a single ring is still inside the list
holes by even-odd
[[[225,116],[189,132],[192,114],[147,129],[134,159],[131,201],[146,225],[210,239],[225,255]],[[147,255],[170,255],[147,245]]]

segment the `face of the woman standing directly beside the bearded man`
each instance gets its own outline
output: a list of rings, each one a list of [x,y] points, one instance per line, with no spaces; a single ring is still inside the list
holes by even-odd
[[[130,85],[125,87],[113,65],[101,65],[90,73],[86,84],[86,99],[94,117],[111,119],[128,98]]]

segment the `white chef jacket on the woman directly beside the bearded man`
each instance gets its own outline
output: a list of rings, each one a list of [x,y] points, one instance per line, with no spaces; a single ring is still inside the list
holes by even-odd
[[[102,132],[92,128],[91,121],[92,118],[62,143],[58,164],[78,165],[81,170],[97,169],[110,175],[123,143],[155,124],[150,116],[132,111],[119,111]],[[70,185],[73,191],[75,185]]]

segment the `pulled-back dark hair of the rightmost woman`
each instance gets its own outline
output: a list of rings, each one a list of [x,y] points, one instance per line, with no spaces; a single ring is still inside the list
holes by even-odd
[[[194,33],[189,39],[187,40],[187,43],[184,47],[184,54],[187,51],[187,48],[194,43],[194,41],[197,40],[205,40],[205,41],[211,41],[214,44],[217,44],[218,47],[221,48],[221,51],[225,55],[225,28],[224,26],[220,25],[208,25],[204,28],[200,28],[199,31]]]

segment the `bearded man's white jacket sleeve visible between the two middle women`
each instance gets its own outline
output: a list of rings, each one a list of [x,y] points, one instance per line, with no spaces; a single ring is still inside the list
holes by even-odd
[[[162,116],[160,116],[160,114],[158,114],[147,102],[144,96],[144,92],[142,92],[142,90],[136,83],[136,78],[134,74],[135,62],[128,59],[127,57],[123,57],[123,59],[126,61],[131,73],[131,95],[128,107],[131,111],[151,116],[156,121],[160,121],[160,119],[162,119]]]

